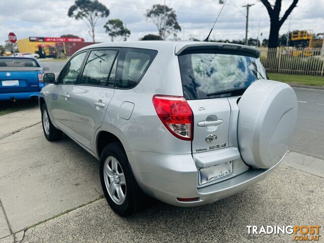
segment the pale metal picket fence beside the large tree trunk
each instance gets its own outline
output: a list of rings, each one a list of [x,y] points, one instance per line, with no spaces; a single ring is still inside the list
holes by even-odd
[[[324,50],[322,48],[261,49],[260,60],[267,72],[324,74]]]

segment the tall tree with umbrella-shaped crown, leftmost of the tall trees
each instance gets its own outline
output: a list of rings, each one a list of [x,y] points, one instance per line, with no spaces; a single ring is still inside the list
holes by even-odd
[[[109,10],[98,0],[75,0],[67,15],[76,20],[83,20],[88,28],[92,41],[95,41],[95,26],[100,18],[108,17]]]

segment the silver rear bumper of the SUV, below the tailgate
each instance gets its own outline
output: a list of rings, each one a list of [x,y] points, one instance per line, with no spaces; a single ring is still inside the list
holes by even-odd
[[[218,183],[197,188],[198,169],[191,154],[127,152],[134,176],[148,195],[167,204],[192,207],[211,204],[240,192],[264,179],[279,164],[269,169],[252,169]],[[178,201],[194,198],[194,201]]]

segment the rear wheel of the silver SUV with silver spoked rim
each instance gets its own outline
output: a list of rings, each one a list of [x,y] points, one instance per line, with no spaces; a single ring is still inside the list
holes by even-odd
[[[139,202],[150,201],[146,200],[149,197],[139,188],[120,143],[110,143],[103,149],[99,172],[108,204],[118,215],[130,216],[138,211]]]

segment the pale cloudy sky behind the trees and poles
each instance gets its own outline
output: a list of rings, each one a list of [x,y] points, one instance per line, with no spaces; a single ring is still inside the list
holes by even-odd
[[[98,21],[96,42],[110,42],[103,25],[108,19],[119,18],[126,23],[131,35],[129,41],[137,41],[145,34],[157,34],[153,23],[146,21],[144,14],[153,4],[164,4],[164,0],[99,0],[110,10],[110,15]],[[274,0],[270,0],[270,3]],[[18,39],[29,36],[59,37],[74,34],[91,42],[86,24],[67,16],[74,0],[0,0],[0,45],[4,45],[9,32]],[[246,9],[250,8],[249,36],[260,40],[268,38],[270,20],[266,8],[259,0],[228,0],[211,34],[212,39],[244,39]],[[280,16],[284,15],[292,0],[282,0]],[[205,39],[222,5],[218,0],[166,0],[166,5],[176,11],[182,31],[178,37]],[[291,30],[305,29],[315,33],[324,32],[324,0],[299,0],[293,10]],[[280,34],[287,33],[289,19],[281,26]],[[261,35],[262,33],[262,35]]]

